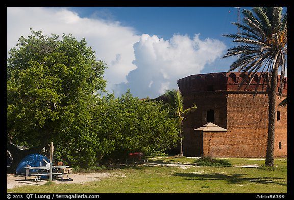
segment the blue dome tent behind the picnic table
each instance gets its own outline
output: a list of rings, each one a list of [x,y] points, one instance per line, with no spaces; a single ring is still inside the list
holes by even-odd
[[[50,160],[41,154],[27,155],[18,163],[15,174],[18,174],[18,175],[26,174],[26,169],[24,169],[24,167],[26,167],[27,165],[30,165],[32,167],[33,166],[46,166],[47,163],[49,163],[49,162],[50,162]],[[31,172],[33,172],[33,170],[31,170]]]

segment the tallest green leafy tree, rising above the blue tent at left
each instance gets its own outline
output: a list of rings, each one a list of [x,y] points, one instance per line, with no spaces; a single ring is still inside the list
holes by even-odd
[[[18,48],[11,48],[7,59],[7,141],[26,145],[39,152],[54,141],[55,153],[69,140],[75,140],[87,160],[90,107],[99,91],[105,91],[103,73],[106,65],[96,60],[95,52],[83,38],[71,34],[51,37],[32,31],[21,36]],[[28,152],[29,153],[29,152]],[[88,154],[89,153],[89,154]],[[63,154],[64,155],[64,154]]]

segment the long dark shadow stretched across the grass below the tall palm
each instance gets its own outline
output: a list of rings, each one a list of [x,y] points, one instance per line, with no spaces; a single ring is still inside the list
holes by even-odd
[[[244,177],[246,174],[220,174],[220,173],[210,173],[210,174],[195,174],[195,173],[173,173],[174,176],[185,177],[188,180],[225,180],[230,184],[237,184],[246,181],[251,181],[255,183],[262,184],[278,184],[282,186],[287,186],[287,182],[280,182],[277,179],[282,179],[280,177],[257,177],[257,178],[247,178]]]

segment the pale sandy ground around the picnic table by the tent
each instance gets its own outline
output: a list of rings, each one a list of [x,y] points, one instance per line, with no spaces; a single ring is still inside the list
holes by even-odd
[[[103,178],[111,176],[111,173],[72,173],[68,174],[68,178],[72,178],[73,181],[58,181],[53,180],[53,182],[57,184],[71,184],[71,183],[84,183],[88,181],[99,181]],[[67,178],[67,176],[63,176],[63,178]],[[15,174],[7,174],[6,176],[6,189],[12,189],[14,187],[18,186],[24,186],[24,185],[43,185],[47,183],[48,180],[41,180],[41,181],[35,181],[35,177],[27,177],[26,180],[24,180],[24,176],[21,175],[15,175]]]

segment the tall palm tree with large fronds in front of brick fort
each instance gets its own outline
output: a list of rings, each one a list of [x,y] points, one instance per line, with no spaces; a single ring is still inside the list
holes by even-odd
[[[257,71],[267,74],[265,82],[266,94],[269,98],[269,112],[265,165],[273,166],[277,76],[278,69],[281,68],[280,89],[278,91],[279,97],[281,97],[287,62],[288,17],[287,11],[282,14],[282,7],[254,7],[252,10],[255,15],[249,10],[242,11],[243,24],[233,23],[242,30],[241,32],[223,35],[233,38],[233,42],[241,43],[241,45],[228,49],[223,58],[238,55],[237,60],[230,66],[229,72],[237,68],[243,72],[249,72],[240,83],[239,88],[247,79],[249,80],[248,87]],[[258,84],[260,79],[261,76],[258,79]],[[264,85],[265,82],[262,84]],[[257,92],[257,87],[254,95]]]

